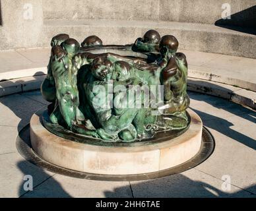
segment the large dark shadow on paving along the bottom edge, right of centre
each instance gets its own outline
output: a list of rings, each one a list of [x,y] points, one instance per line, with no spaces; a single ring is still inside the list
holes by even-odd
[[[135,198],[256,197],[256,195],[247,191],[234,191],[234,187],[231,187],[232,193],[229,193],[228,190],[221,191],[222,183],[224,182],[220,181],[218,184],[220,187],[216,189],[216,187],[208,183],[193,181],[182,174],[177,174],[162,179],[133,182],[131,183],[131,187]],[[228,185],[224,184],[223,187],[228,189]],[[255,188],[256,185],[253,187]],[[117,188],[113,191],[119,190]],[[106,191],[105,196],[108,197],[111,193],[112,191]]]

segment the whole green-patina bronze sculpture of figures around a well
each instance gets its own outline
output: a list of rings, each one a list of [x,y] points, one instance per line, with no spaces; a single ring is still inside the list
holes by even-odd
[[[189,125],[187,61],[174,36],[149,30],[133,45],[81,46],[67,34],[51,40],[42,95],[51,127],[104,142],[137,142]]]

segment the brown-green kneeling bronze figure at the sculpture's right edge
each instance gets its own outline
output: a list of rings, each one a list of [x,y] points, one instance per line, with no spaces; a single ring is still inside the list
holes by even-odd
[[[163,36],[160,41],[162,60],[161,84],[164,85],[164,101],[169,104],[166,113],[184,111],[189,106],[187,96],[187,60],[183,53],[176,53],[179,43],[174,36]]]

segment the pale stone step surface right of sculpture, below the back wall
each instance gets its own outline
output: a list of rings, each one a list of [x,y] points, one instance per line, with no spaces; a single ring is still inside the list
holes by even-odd
[[[188,75],[256,92],[256,59],[181,50],[187,56]]]

